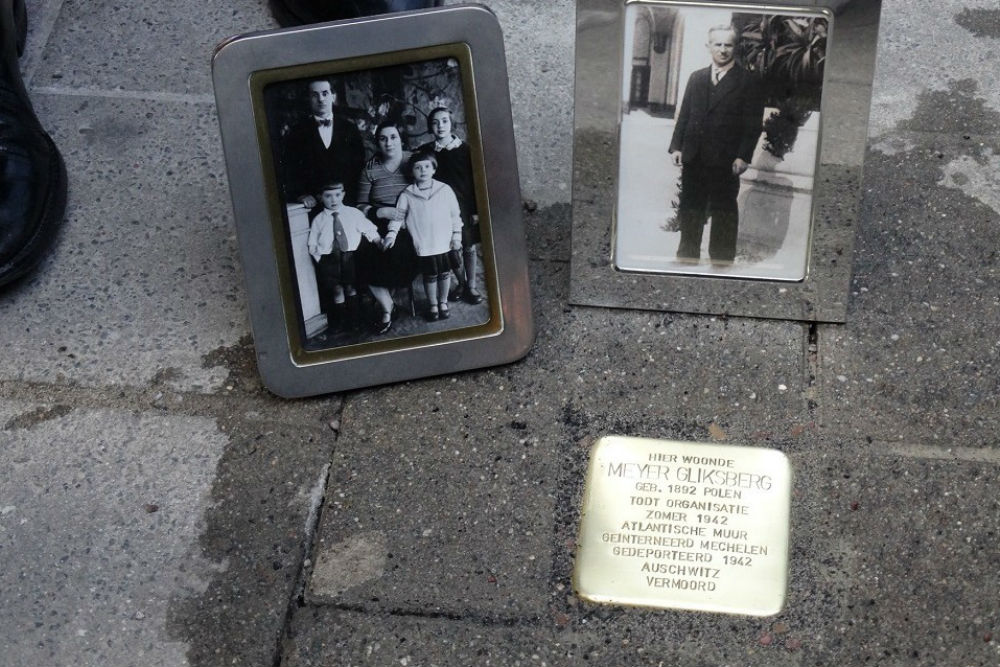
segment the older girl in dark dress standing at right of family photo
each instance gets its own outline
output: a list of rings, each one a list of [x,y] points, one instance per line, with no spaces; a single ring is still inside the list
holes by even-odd
[[[451,111],[437,107],[427,114],[427,131],[434,135],[420,147],[431,151],[437,158],[438,168],[434,178],[451,186],[458,198],[462,214],[462,251],[451,253],[451,268],[458,279],[461,297],[467,303],[482,303],[483,296],[476,290],[477,248],[480,241],[479,214],[476,208],[476,184],[472,178],[472,155],[469,145],[452,134]]]

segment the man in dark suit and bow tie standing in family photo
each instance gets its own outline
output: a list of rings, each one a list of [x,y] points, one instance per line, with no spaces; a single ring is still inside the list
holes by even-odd
[[[281,141],[282,189],[285,201],[316,206],[327,183],[343,183],[345,203],[353,205],[365,148],[357,127],[335,116],[337,95],[330,82],[309,82],[310,114],[292,126]]]

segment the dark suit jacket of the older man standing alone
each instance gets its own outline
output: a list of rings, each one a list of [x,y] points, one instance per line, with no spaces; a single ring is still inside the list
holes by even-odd
[[[748,163],[763,128],[764,103],[753,76],[735,65],[712,90],[711,67],[691,74],[674,124],[670,151],[684,164],[729,167]]]

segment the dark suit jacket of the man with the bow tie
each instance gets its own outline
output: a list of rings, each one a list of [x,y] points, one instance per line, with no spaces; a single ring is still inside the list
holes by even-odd
[[[286,201],[295,201],[305,195],[318,199],[324,185],[340,181],[346,191],[345,203],[355,203],[358,175],[365,164],[365,146],[354,123],[335,116],[333,138],[326,147],[316,121],[309,117],[292,126],[281,145],[282,189]]]

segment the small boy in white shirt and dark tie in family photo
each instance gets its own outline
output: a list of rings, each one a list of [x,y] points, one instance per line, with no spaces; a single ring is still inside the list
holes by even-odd
[[[331,183],[323,188],[323,208],[309,227],[309,254],[316,262],[316,283],[320,305],[328,324],[347,324],[348,297],[357,294],[354,253],[365,238],[381,244],[376,227],[358,209],[344,204],[344,184]],[[333,303],[330,303],[330,298]]]

